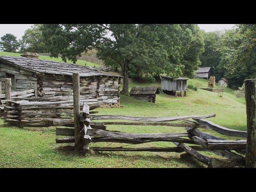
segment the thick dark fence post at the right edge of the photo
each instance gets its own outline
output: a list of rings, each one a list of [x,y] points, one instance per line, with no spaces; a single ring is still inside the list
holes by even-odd
[[[256,79],[245,80],[247,115],[246,168],[256,168]]]

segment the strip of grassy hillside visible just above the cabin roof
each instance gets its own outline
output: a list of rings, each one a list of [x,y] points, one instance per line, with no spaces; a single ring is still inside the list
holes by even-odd
[[[10,55],[10,56],[20,56],[20,53],[10,53],[10,52],[0,52],[0,55]],[[39,56],[40,59],[45,59],[45,60],[50,60],[50,61],[59,61],[59,62],[63,62],[62,58],[54,58],[54,57],[49,57],[49,56]],[[71,61],[68,61],[69,63],[73,63]],[[77,60],[76,64],[84,66],[86,64],[86,66],[90,66],[90,67],[94,67],[94,65],[96,67],[100,66],[99,64],[95,64],[92,62],[88,62],[88,61],[84,61],[84,60]]]

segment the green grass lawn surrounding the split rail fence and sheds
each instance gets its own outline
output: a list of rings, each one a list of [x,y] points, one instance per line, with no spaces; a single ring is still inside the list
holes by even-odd
[[[188,84],[207,87],[207,80],[190,79]],[[133,81],[132,86],[158,86],[160,82],[149,82],[146,78]],[[244,98],[236,98],[234,90],[226,88],[223,97],[218,93],[202,89],[188,89],[187,97],[175,98],[164,93],[157,94],[156,103],[143,102],[120,97],[121,108],[96,109],[100,114],[164,117],[182,115],[205,115],[216,113],[216,117],[208,120],[236,130],[246,130],[246,106]],[[206,167],[196,160],[181,160],[175,152],[98,152],[95,155],[78,155],[74,152],[60,150],[60,146],[68,144],[55,143],[55,128],[16,128],[6,127],[0,121],[0,167],[36,167],[36,168],[198,168]],[[184,128],[167,126],[108,126],[108,130],[121,132],[167,133],[185,132]],[[212,130],[203,130],[225,139],[241,139],[223,136]],[[107,147],[125,146],[118,143],[92,143],[90,146]],[[170,142],[151,142],[127,147],[171,147]],[[215,156],[210,152],[200,152],[207,156]],[[219,156],[218,156],[219,157]]]

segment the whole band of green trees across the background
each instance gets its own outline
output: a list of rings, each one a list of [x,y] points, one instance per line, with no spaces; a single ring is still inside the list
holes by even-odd
[[[121,67],[127,95],[129,77],[194,78],[198,66],[211,66],[217,80],[225,77],[237,88],[256,78],[255,36],[254,24],[225,32],[204,32],[196,24],[35,24],[21,40],[6,34],[0,47],[62,54],[62,60],[74,63],[77,55],[97,50],[105,64]]]

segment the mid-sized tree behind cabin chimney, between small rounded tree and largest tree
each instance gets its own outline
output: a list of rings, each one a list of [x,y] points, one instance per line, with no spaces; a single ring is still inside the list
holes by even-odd
[[[20,51],[44,53],[48,52],[47,47],[43,41],[42,24],[34,24],[27,29],[20,40]]]

